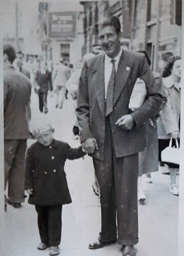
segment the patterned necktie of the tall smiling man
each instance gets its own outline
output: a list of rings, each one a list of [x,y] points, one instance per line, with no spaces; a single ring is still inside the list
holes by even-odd
[[[112,62],[112,72],[111,72],[110,80],[108,81],[108,86],[107,86],[105,116],[108,116],[113,111],[113,90],[114,90],[114,83],[115,83],[116,68],[115,68],[115,60],[112,60],[111,62]]]

